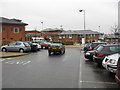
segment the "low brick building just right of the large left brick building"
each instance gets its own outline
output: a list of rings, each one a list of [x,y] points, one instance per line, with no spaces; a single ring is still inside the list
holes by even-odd
[[[44,32],[40,32],[40,31],[37,31],[37,30],[25,31],[25,40],[31,41],[32,37],[44,38],[45,34],[44,34]]]

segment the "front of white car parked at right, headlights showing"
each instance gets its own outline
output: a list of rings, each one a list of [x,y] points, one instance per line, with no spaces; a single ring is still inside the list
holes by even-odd
[[[112,73],[116,73],[119,57],[120,53],[106,56],[102,62],[103,67]]]

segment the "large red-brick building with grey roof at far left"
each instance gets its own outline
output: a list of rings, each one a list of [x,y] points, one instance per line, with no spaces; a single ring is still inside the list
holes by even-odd
[[[1,40],[25,40],[25,26],[22,20],[0,17]]]

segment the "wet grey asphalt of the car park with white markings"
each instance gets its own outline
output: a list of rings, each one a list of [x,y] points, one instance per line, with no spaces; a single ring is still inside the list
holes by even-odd
[[[79,48],[48,56],[47,50],[2,61],[3,88],[116,88],[114,74],[89,60]]]

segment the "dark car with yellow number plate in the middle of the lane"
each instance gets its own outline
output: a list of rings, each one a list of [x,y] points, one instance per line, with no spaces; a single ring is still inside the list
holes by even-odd
[[[49,55],[51,55],[51,53],[64,54],[65,53],[65,46],[62,44],[53,43],[48,48],[48,53],[49,53]]]

